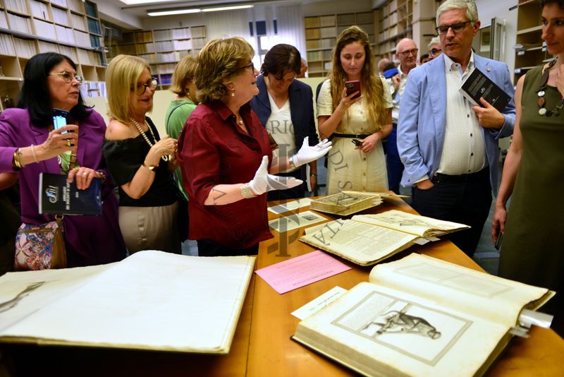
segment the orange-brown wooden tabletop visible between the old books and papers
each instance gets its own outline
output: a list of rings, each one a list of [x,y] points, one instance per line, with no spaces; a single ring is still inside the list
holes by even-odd
[[[398,198],[384,201],[382,205],[374,208],[373,212],[379,213],[391,209],[415,213],[409,205]],[[277,217],[272,214],[269,216]],[[314,250],[312,246],[298,240],[293,241],[293,232],[273,233],[274,239],[265,241],[260,246],[257,269]],[[271,249],[276,249],[272,246],[276,244],[286,245],[286,250],[268,253],[269,246]],[[403,258],[414,251],[483,271],[452,242],[446,240],[431,242],[424,246],[412,246],[390,260]],[[348,369],[290,340],[290,336],[293,335],[300,321],[290,315],[291,312],[336,285],[350,289],[359,282],[368,280],[370,267],[363,268],[343,259],[340,260],[353,269],[285,294],[278,294],[264,280],[257,278],[252,308],[247,376],[265,376],[266,374],[269,377],[350,376],[351,372]],[[517,337],[513,339],[501,358],[492,366],[488,375],[563,376],[564,340],[553,330],[537,327],[531,330],[530,335],[528,339]]]

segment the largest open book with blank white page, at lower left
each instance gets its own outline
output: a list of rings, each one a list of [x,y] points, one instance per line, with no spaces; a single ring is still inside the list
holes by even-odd
[[[0,277],[0,341],[226,354],[255,257],[140,251]]]

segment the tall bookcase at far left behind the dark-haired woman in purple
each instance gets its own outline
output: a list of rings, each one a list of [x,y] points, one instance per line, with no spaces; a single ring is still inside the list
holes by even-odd
[[[105,79],[96,4],[82,0],[0,0],[0,111],[13,106],[27,61],[41,52],[69,56],[84,88]]]

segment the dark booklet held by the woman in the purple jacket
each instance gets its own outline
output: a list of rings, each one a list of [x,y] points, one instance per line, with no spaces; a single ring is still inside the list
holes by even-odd
[[[85,190],[69,184],[66,174],[39,175],[39,213],[50,215],[102,215],[102,180],[92,179]]]

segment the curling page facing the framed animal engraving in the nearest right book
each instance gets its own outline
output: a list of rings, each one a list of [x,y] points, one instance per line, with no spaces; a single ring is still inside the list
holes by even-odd
[[[372,268],[369,281],[488,318],[508,328],[517,323],[523,306],[549,292],[419,254],[377,265]]]

